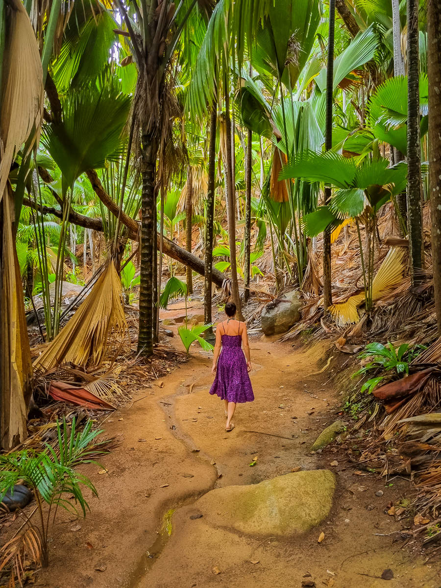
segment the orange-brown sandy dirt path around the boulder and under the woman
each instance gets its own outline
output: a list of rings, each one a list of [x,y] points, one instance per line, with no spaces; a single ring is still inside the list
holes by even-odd
[[[171,306],[162,318],[182,308]],[[188,363],[112,413],[103,426],[121,445],[101,466],[83,468],[99,498],[89,499],[85,520],[59,515],[49,569],[34,586],[272,588],[307,579],[317,587],[376,588],[385,584],[385,569],[393,572],[390,586],[441,586],[441,563],[425,563],[416,544],[405,546],[403,522],[387,515],[387,503],[409,497],[409,483],[355,475],[342,450],[310,453],[342,403],[332,387],[338,365],[318,373],[332,355],[329,342],[294,349],[258,335],[250,349],[255,402],[238,405],[231,433],[223,402],[208,393],[211,354],[196,347]],[[252,537],[191,518],[196,500],[214,488],[255,484],[296,467],[327,468],[337,477],[330,515],[309,533]]]

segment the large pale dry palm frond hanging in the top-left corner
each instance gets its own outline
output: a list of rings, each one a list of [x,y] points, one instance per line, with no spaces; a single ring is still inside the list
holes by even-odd
[[[5,6],[5,16],[3,91],[0,96],[0,139],[3,141],[0,201],[12,160],[32,133],[34,142],[38,141],[43,115],[43,71],[28,13],[20,0],[10,0]],[[28,145],[29,151],[31,148],[32,145]]]

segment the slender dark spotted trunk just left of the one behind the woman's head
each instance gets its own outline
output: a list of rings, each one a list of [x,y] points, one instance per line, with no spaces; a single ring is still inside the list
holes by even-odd
[[[216,126],[218,122],[218,105],[213,101],[210,115],[210,139],[208,146],[208,186],[207,186],[207,219],[205,225],[205,280],[203,290],[204,322],[212,322],[212,269],[213,269],[213,222],[215,220],[215,171],[216,171]],[[213,329],[206,330],[206,337],[212,335]]]

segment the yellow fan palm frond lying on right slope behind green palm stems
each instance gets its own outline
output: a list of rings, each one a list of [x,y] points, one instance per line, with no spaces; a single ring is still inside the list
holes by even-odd
[[[372,300],[385,299],[397,284],[402,281],[404,264],[402,249],[390,249],[372,282]],[[360,320],[358,306],[365,299],[364,293],[350,296],[344,302],[329,306],[329,312],[340,326]]]

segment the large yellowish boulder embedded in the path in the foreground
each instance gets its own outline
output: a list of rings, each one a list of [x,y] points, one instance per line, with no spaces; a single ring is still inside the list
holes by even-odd
[[[332,472],[311,470],[250,486],[211,490],[195,503],[195,507],[216,527],[253,536],[292,537],[326,519],[334,490]]]

